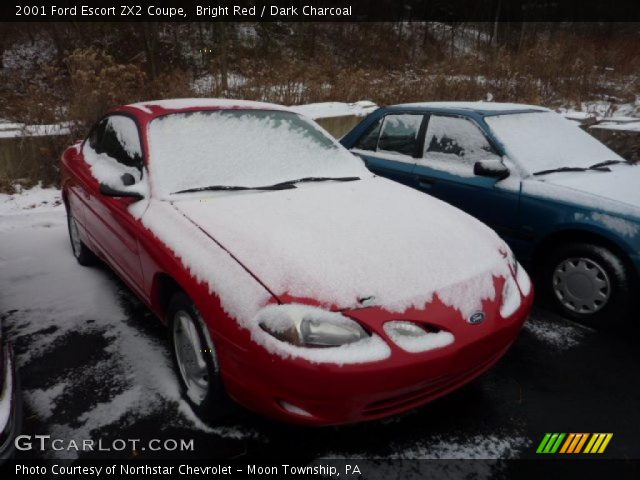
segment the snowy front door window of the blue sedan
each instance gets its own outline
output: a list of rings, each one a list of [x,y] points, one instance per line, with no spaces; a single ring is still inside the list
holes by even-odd
[[[471,171],[477,161],[500,159],[482,130],[460,117],[431,115],[424,149],[425,164],[442,162]]]

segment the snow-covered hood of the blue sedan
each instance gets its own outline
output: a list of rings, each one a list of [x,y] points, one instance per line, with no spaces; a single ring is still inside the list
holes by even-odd
[[[640,215],[640,165],[611,165],[611,172],[552,173],[525,180],[527,194]]]

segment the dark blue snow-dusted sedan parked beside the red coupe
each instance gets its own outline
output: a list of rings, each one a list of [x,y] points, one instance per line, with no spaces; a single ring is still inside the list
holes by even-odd
[[[640,166],[577,124],[532,105],[413,103],[376,110],[341,143],[496,230],[561,314],[592,326],[629,317]]]

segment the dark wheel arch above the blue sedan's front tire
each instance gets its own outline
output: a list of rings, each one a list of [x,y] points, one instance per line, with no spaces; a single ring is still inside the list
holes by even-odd
[[[534,274],[538,274],[544,263],[544,255],[556,248],[558,245],[567,243],[591,243],[611,250],[624,263],[627,271],[632,275],[634,281],[638,282],[638,274],[633,268],[633,263],[629,255],[617,243],[608,238],[588,230],[563,230],[544,238],[536,246],[531,257],[531,266]]]

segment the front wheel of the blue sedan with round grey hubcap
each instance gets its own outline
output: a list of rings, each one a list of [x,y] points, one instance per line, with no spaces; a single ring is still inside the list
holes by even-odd
[[[589,243],[558,246],[541,272],[545,301],[560,315],[594,328],[619,323],[631,305],[631,277],[616,254]]]

